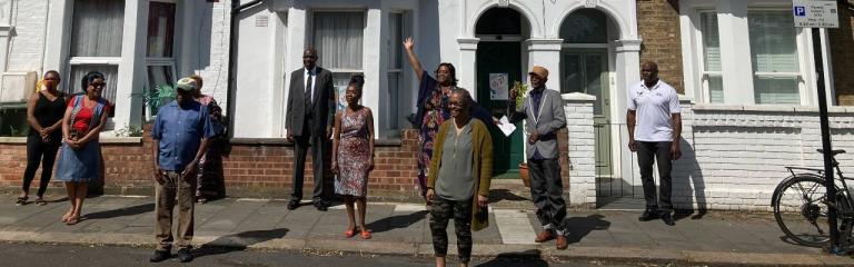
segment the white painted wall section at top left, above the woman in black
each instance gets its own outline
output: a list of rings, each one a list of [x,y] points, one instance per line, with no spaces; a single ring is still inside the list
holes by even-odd
[[[7,71],[42,71],[47,1],[27,0],[14,3],[18,7],[12,4],[11,24],[14,26],[14,34],[9,42]]]

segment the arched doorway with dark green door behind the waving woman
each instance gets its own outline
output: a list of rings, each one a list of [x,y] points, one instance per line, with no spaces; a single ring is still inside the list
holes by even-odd
[[[484,12],[475,26],[477,43],[477,101],[496,118],[507,111],[507,92],[514,81],[525,82],[522,42],[528,39],[530,27],[512,8],[493,8]],[[517,178],[524,159],[522,123],[509,137],[490,126],[493,136],[495,178]]]

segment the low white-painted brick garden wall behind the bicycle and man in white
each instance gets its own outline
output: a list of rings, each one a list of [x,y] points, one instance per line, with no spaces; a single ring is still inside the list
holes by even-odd
[[[573,166],[569,202],[590,206],[596,204],[596,187],[603,186],[595,177],[593,100],[584,95],[565,95],[564,99]],[[823,166],[822,155],[815,151],[822,146],[816,108],[689,101],[683,101],[682,108],[683,157],[673,167],[676,208],[769,211],[774,188],[790,176],[785,166]],[[831,111],[833,148],[850,151],[836,158],[843,172],[854,177],[854,108],[833,107]],[[614,129],[612,135],[625,135],[617,134],[625,127]],[[625,146],[625,140],[618,146]],[[622,177],[615,172],[614,181],[623,186],[615,190],[643,201],[636,158],[623,158],[614,162],[625,170]]]

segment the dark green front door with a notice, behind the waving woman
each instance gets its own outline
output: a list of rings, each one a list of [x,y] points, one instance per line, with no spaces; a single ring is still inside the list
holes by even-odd
[[[491,76],[490,76],[491,73]],[[496,117],[502,118],[507,111],[507,100],[493,100],[490,77],[507,78],[507,88],[514,81],[525,81],[522,76],[522,44],[514,42],[483,41],[477,44],[477,102]],[[506,98],[506,97],[504,97]],[[496,178],[518,178],[519,162],[523,160],[522,122],[516,123],[516,131],[509,137],[497,127],[489,126],[493,136],[493,175]]]

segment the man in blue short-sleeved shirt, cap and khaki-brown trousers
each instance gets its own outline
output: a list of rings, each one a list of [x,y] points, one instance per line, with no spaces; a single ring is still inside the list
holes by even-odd
[[[181,263],[192,260],[193,204],[196,170],[216,132],[211,127],[208,108],[192,98],[196,81],[183,78],[176,85],[175,101],[161,107],[151,129],[155,157],[155,236],[157,249],[152,263],[171,257],[172,245],[178,247]],[[176,201],[177,198],[177,201]],[[178,206],[178,230],[172,236],[172,210]]]

